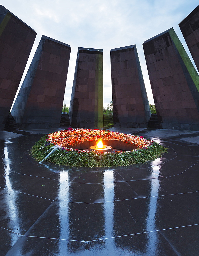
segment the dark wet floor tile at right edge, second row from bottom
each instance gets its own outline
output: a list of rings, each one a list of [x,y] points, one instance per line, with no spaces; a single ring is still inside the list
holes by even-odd
[[[198,194],[187,193],[117,201],[114,205],[120,204],[121,222],[128,208],[140,232],[147,232],[199,223],[197,198]]]

